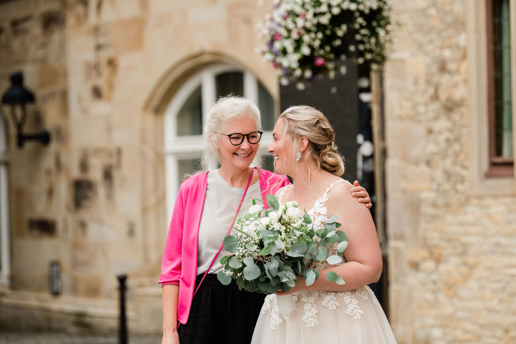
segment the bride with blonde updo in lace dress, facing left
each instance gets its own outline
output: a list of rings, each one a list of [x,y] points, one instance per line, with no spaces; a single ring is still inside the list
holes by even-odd
[[[377,282],[382,257],[375,224],[369,211],[353,200],[349,182],[341,179],[344,162],[335,146],[333,128],[320,111],[309,106],[285,110],[273,131],[268,152],[277,173],[294,184],[278,190],[280,202],[297,201],[312,217],[314,230],[338,215],[349,244],[338,266],[318,267],[319,279],[310,286],[298,276],[288,292],[265,298],[252,344],[381,344],[396,343],[389,322],[367,286]],[[336,244],[330,254],[335,254]],[[339,285],[326,280],[334,271]],[[281,299],[280,307],[278,300]],[[287,300],[289,305],[283,304]]]

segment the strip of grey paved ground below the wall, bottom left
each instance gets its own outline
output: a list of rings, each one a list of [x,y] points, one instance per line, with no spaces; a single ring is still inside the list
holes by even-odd
[[[161,335],[128,336],[128,344],[160,344]],[[0,332],[0,344],[118,344],[116,336]]]

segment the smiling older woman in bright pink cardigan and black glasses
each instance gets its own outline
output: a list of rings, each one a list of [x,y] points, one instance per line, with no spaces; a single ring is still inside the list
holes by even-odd
[[[187,178],[175,201],[159,280],[164,344],[251,341],[265,296],[220,284],[217,257],[228,254],[222,239],[236,215],[253,199],[267,206],[266,195],[289,184],[285,175],[250,168],[261,130],[259,109],[242,97],[223,97],[207,113],[202,167],[218,161],[220,168]],[[365,189],[354,191],[369,206]]]

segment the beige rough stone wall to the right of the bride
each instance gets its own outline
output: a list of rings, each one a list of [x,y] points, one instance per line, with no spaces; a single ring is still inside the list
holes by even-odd
[[[477,70],[475,55],[487,54],[471,49],[485,30],[472,12],[485,5],[393,0],[392,6],[398,24],[383,88],[396,339],[515,343],[514,178],[486,181],[486,166],[476,164],[480,149],[471,144],[488,144],[479,135],[487,115],[475,116],[483,111],[476,97],[486,94],[471,92],[475,75],[485,71]],[[487,182],[490,189],[478,187]]]

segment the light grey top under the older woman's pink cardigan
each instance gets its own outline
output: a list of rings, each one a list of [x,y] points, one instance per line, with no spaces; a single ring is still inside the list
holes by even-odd
[[[253,173],[257,173],[254,171]],[[208,270],[213,258],[222,244],[224,236],[228,234],[229,226],[235,217],[236,209],[240,204],[245,189],[234,188],[222,179],[218,170],[211,171],[207,177],[206,198],[202,209],[201,224],[199,225],[199,242],[197,249],[197,274]],[[253,205],[253,199],[262,200],[260,183],[256,182],[249,186],[244,202],[238,211],[238,215],[246,214]],[[256,203],[259,204],[259,203]],[[263,204],[263,203],[262,203]],[[229,254],[222,249],[210,273],[217,273],[222,270],[220,258]]]

